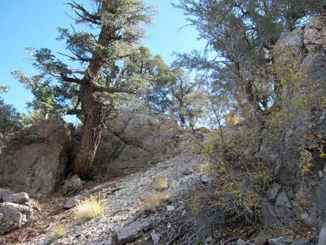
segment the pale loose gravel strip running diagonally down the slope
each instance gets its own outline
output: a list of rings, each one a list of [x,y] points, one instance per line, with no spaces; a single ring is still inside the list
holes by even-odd
[[[92,221],[83,225],[70,225],[67,228],[68,235],[60,239],[53,239],[49,231],[37,237],[33,242],[26,245],[45,244],[112,244],[112,235],[123,226],[135,220],[137,211],[142,208],[142,201],[155,191],[154,180],[157,176],[165,176],[169,188],[167,192],[173,194],[178,200],[200,185],[200,157],[193,153],[180,153],[180,155],[170,160],[160,162],[147,171],[138,172],[119,178],[110,187],[96,187],[87,189],[83,196],[96,194],[105,201],[105,212]],[[153,223],[159,215],[151,215]],[[157,221],[157,220],[156,220]],[[72,223],[72,221],[71,221]]]

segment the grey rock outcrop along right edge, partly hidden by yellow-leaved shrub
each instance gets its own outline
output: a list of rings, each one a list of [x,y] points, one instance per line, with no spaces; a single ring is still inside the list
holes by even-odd
[[[302,63],[302,67],[307,72],[309,82],[318,82],[320,92],[326,90],[326,14],[318,15],[311,19],[307,26],[297,28],[291,33],[284,33],[275,44],[273,54],[275,59],[288,58],[289,51],[295,55],[295,58]],[[282,53],[284,56],[282,56]],[[325,110],[318,110],[315,112],[316,118],[311,119],[314,121],[314,130],[318,133],[325,133],[326,117]],[[316,154],[318,155],[318,154]],[[304,210],[300,210],[299,207],[294,208],[296,218],[304,222],[314,224],[316,226],[322,226],[326,221],[326,178],[325,174],[325,158],[316,157],[314,160],[314,166],[311,168],[311,180],[304,183],[303,188],[300,191],[300,195],[304,200],[309,203]],[[278,188],[280,189],[280,188]],[[271,203],[276,197],[273,192],[277,194],[278,190],[270,189],[268,197]],[[280,197],[281,196],[281,197]],[[291,207],[289,198],[285,194],[278,194],[277,198],[280,198],[278,204],[276,203],[276,211],[279,217],[284,221],[288,220],[290,214],[294,211]],[[298,201],[295,202],[295,198],[292,198],[293,203],[298,205]],[[280,202],[282,201],[283,204]],[[299,206],[299,205],[298,205]],[[282,212],[280,212],[282,211]]]

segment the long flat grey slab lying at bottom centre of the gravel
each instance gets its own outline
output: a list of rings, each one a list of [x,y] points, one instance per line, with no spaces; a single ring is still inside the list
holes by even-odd
[[[133,242],[135,239],[140,237],[143,232],[146,232],[150,229],[150,221],[144,220],[132,222],[128,226],[125,226],[119,230],[117,235],[117,243],[121,245],[128,242]]]

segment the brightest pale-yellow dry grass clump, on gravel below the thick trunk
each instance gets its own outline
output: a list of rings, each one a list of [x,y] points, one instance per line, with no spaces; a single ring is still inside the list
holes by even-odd
[[[103,213],[104,208],[103,201],[95,196],[91,196],[76,205],[74,208],[74,217],[78,223],[85,223],[94,219],[98,214]]]

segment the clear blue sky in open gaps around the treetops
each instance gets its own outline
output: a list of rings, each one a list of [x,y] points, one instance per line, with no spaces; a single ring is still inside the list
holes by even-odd
[[[31,101],[31,94],[12,78],[10,72],[17,69],[26,75],[35,74],[26,47],[46,47],[53,53],[65,52],[65,44],[58,42],[57,28],[69,27],[73,20],[67,3],[69,0],[10,0],[0,1],[0,85],[10,85],[10,92],[1,94],[6,103],[12,104],[17,110],[26,110],[26,101]],[[76,0],[89,5],[89,0]],[[173,61],[173,51],[180,53],[192,49],[203,49],[205,42],[198,41],[198,33],[192,26],[185,26],[185,16],[181,10],[171,6],[171,2],[178,0],[146,0],[148,4],[159,6],[159,13],[155,17],[155,24],[148,27],[148,37],[144,45],[149,47],[153,54],[160,54],[170,64]]]

